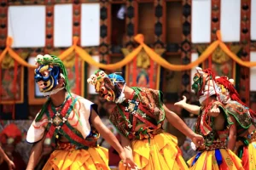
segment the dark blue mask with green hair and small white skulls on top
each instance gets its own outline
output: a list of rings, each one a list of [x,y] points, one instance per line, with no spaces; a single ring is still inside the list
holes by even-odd
[[[67,86],[67,71],[61,61],[56,56],[45,54],[38,55],[35,69],[35,81],[38,83],[38,87],[41,93],[44,95],[55,94]],[[59,79],[63,78],[65,87],[55,89],[59,83]]]

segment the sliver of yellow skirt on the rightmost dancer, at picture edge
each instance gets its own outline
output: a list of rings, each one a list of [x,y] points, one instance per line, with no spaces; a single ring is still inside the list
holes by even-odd
[[[241,161],[245,170],[256,169],[256,142],[243,147]]]

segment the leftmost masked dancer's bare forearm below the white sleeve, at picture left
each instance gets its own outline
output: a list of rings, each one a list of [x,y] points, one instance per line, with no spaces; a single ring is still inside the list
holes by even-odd
[[[43,139],[33,144],[31,154],[29,156],[29,160],[26,166],[26,170],[32,170],[38,165],[39,157],[43,152],[44,139],[45,135]]]

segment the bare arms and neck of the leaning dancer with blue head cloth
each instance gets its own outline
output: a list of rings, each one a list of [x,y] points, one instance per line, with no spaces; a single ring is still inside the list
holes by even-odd
[[[119,86],[119,89],[122,89],[124,87],[123,84],[119,83],[118,84]],[[102,91],[100,90],[98,93],[100,94],[100,96],[104,97],[104,95],[108,95],[106,93],[106,86],[104,84],[104,82],[102,82],[101,84],[101,88]],[[111,88],[113,89],[113,88]],[[131,95],[133,94],[134,90],[128,86],[125,86],[125,90],[124,90],[124,94],[125,94],[125,99],[130,99],[131,98]],[[163,105],[163,108],[166,112],[166,120],[168,122],[171,122],[172,125],[174,127],[176,127],[179,131],[181,131],[182,133],[184,133],[186,136],[188,136],[190,139],[193,140],[193,142],[196,144],[196,145],[201,145],[203,144],[203,137],[198,135],[198,134],[195,134],[183,121],[182,119],[180,119],[179,116],[177,116],[176,113],[174,113],[173,111],[169,111],[167,108],[166,108],[166,105]],[[138,125],[136,128],[135,128],[135,131],[137,131],[140,127],[145,127],[146,125],[145,124],[140,124]],[[126,157],[127,157],[127,160],[131,160],[133,161],[133,156],[132,156],[132,147],[131,147],[131,140],[130,139],[127,139],[125,138],[125,136],[122,136],[121,135],[121,144],[122,146],[124,147],[125,149],[125,153],[126,153]],[[133,166],[129,166],[131,169],[137,169],[137,167],[133,167]]]

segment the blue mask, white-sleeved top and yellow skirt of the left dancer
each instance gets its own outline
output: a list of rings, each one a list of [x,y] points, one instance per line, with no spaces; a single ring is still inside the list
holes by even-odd
[[[51,138],[55,150],[44,169],[109,169],[108,150],[97,146],[99,134],[90,124],[90,112],[91,109],[96,110],[96,105],[69,92],[67,72],[60,59],[41,55],[37,62],[36,81],[43,80],[48,85],[41,88],[41,92],[52,93],[52,87],[57,84],[55,79],[59,77],[65,79],[67,89],[62,105],[55,107],[49,98],[27,132],[26,140],[29,143],[36,143],[45,135]],[[63,138],[65,142],[61,142]]]

